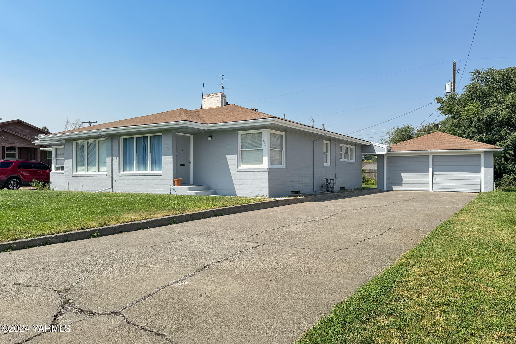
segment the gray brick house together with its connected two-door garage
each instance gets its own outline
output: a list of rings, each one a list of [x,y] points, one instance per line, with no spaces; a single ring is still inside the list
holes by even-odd
[[[271,116],[226,95],[176,109],[40,136],[58,190],[269,197],[362,185],[362,154],[378,156],[382,190],[493,189],[502,149],[448,134],[385,146]],[[174,178],[183,178],[174,187]]]

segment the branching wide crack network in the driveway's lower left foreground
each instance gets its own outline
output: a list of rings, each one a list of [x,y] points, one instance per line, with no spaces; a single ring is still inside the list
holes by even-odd
[[[182,239],[184,240],[184,239]],[[181,240],[177,240],[177,241],[181,241]],[[189,274],[186,274],[186,275],[183,275],[181,276],[179,279],[177,280],[174,280],[174,281],[171,281],[170,283],[164,285],[164,286],[160,286],[160,287],[157,287],[155,288],[155,291],[136,300],[136,301],[133,301],[127,305],[125,305],[124,307],[120,308],[120,309],[117,309],[117,310],[114,310],[112,312],[96,312],[96,311],[92,311],[92,310],[87,310],[87,309],[84,309],[84,308],[81,308],[79,306],[77,306],[73,301],[71,301],[71,299],[67,299],[66,298],[66,293],[68,291],[70,291],[73,287],[77,286],[80,282],[83,282],[84,281],[84,278],[83,277],[86,277],[88,275],[90,275],[93,271],[95,271],[96,269],[98,269],[98,266],[95,266],[94,268],[90,269],[90,271],[88,271],[88,273],[83,276],[83,277],[80,277],[77,281],[74,282],[74,284],[72,284],[70,287],[68,287],[67,289],[61,291],[61,290],[58,290],[58,289],[53,289],[53,288],[50,288],[50,287],[42,287],[42,286],[30,286],[30,287],[40,287],[40,288],[46,288],[46,289],[51,289],[53,291],[55,291],[60,299],[61,299],[61,304],[59,305],[58,309],[57,309],[57,313],[55,314],[54,316],[54,320],[51,322],[51,324],[59,324],[59,319],[64,316],[65,314],[67,313],[75,313],[75,314],[86,314],[86,318],[83,319],[83,320],[86,320],[88,318],[92,318],[92,317],[98,317],[98,316],[120,316],[122,317],[122,319],[124,319],[124,321],[128,324],[128,325],[131,325],[131,326],[135,326],[137,329],[141,330],[141,331],[146,331],[146,332],[150,332],[156,336],[159,336],[161,338],[163,338],[164,340],[168,341],[168,342],[171,342],[171,343],[174,343],[174,344],[178,344],[178,342],[176,341],[173,341],[170,337],[168,337],[167,334],[165,333],[162,333],[162,332],[159,332],[159,331],[154,331],[154,330],[151,330],[151,329],[147,329],[146,327],[142,326],[142,325],[138,325],[135,321],[132,321],[130,320],[126,315],[124,315],[122,312],[124,310],[126,310],[127,308],[129,307],[132,307],[134,306],[135,304],[137,303],[140,303],[142,301],[145,301],[147,300],[148,298],[150,298],[151,296],[153,296],[154,294],[156,294],[157,292],[167,288],[167,287],[170,287],[170,286],[173,286],[173,285],[179,285],[181,284],[181,282],[183,282],[184,280],[188,279],[189,277],[193,276],[193,275],[196,275],[197,273],[207,269],[207,268],[210,268],[214,265],[217,265],[217,264],[220,264],[220,263],[223,263],[225,260],[229,260],[231,258],[234,258],[236,257],[237,255],[241,254],[241,253],[244,253],[246,251],[249,251],[249,250],[253,250],[253,249],[256,249],[256,248],[259,248],[259,247],[262,247],[263,245],[265,245],[265,243],[260,243],[258,245],[255,245],[253,247],[250,247],[250,248],[247,248],[247,249],[244,249],[244,250],[240,250],[240,251],[237,251],[237,252],[234,252],[232,254],[230,254],[229,256],[221,259],[221,260],[216,260],[216,261],[212,261],[212,263],[209,263],[209,264],[206,264],[205,266],[197,269],[196,271],[193,271]],[[112,252],[110,253],[109,255],[101,258],[101,260],[99,260],[99,263],[107,258],[108,256],[112,255],[112,254],[115,254],[115,253],[118,253],[118,252]],[[22,287],[27,287],[27,286],[22,286]],[[81,320],[78,320],[78,321],[81,321]],[[77,321],[75,321],[77,322]],[[75,323],[73,322],[73,323]],[[20,343],[25,343],[33,338],[36,338],[37,336],[40,336],[42,334],[44,334],[46,332],[42,332],[42,333],[38,333],[37,335],[35,336],[32,336],[32,337],[29,337],[29,338],[26,338],[24,339],[23,341],[21,341]],[[18,343],[17,343],[18,344]]]

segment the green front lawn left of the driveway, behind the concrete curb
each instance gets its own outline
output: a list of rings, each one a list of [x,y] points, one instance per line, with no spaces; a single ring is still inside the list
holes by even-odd
[[[153,193],[0,190],[0,242],[265,200]]]

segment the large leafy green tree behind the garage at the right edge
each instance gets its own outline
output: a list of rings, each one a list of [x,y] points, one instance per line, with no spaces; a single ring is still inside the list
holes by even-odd
[[[436,101],[446,116],[445,132],[501,146],[504,151],[495,157],[495,178],[516,182],[516,67],[477,69],[463,93]]]

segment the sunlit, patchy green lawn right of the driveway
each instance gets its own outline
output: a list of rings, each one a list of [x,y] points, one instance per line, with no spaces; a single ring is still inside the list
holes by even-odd
[[[515,319],[516,192],[491,191],[297,343],[514,343]]]

